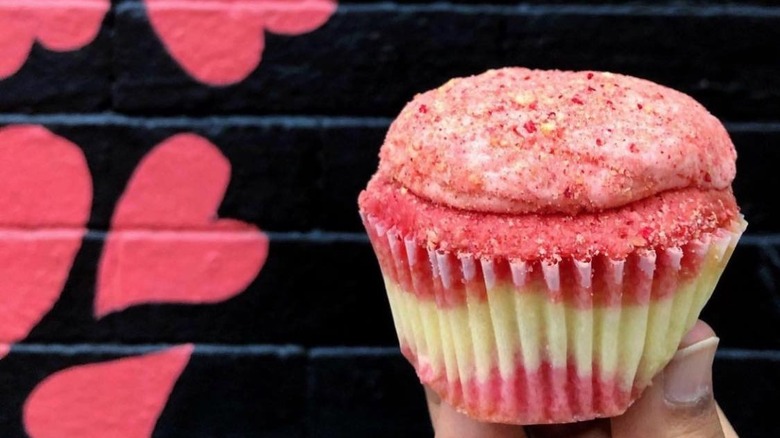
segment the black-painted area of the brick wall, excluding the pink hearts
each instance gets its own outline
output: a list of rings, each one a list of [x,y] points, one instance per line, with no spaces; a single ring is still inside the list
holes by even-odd
[[[181,342],[195,354],[155,437],[429,435],[355,199],[414,93],[503,65],[643,76],[727,122],[751,225],[703,318],[722,338],[724,410],[744,436],[780,436],[780,2],[341,2],[320,29],[266,42],[248,79],[208,87],[166,54],[139,1],[115,1],[93,43],[36,46],[0,81],[0,124],[73,140],[95,187],[62,299],[0,361],[8,436],[23,434],[5,408],[52,371]],[[178,132],[205,136],[231,161],[220,215],[268,231],[268,263],[227,302],[96,322],[96,261],[117,198],[144,153]]]

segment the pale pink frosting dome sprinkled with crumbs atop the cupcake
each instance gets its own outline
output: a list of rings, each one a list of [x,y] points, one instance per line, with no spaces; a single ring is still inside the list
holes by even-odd
[[[491,70],[417,95],[379,172],[454,208],[577,213],[673,189],[726,189],[736,152],[691,97],[611,73]]]

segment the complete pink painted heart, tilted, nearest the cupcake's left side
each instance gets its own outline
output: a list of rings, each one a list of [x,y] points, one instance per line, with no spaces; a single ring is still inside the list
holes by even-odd
[[[135,170],[112,218],[98,270],[95,314],[143,303],[214,303],[260,272],[268,238],[217,219],[230,163],[206,139],[180,134]]]

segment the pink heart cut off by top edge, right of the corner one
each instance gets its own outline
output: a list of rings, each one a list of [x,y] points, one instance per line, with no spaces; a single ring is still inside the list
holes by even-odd
[[[198,81],[228,85],[260,64],[264,30],[299,35],[322,26],[334,0],[144,0],[170,55]]]

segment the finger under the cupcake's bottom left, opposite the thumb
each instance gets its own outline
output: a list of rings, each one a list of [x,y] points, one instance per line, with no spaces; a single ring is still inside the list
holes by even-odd
[[[428,387],[425,399],[436,438],[527,438],[521,426],[481,423],[461,414]]]

